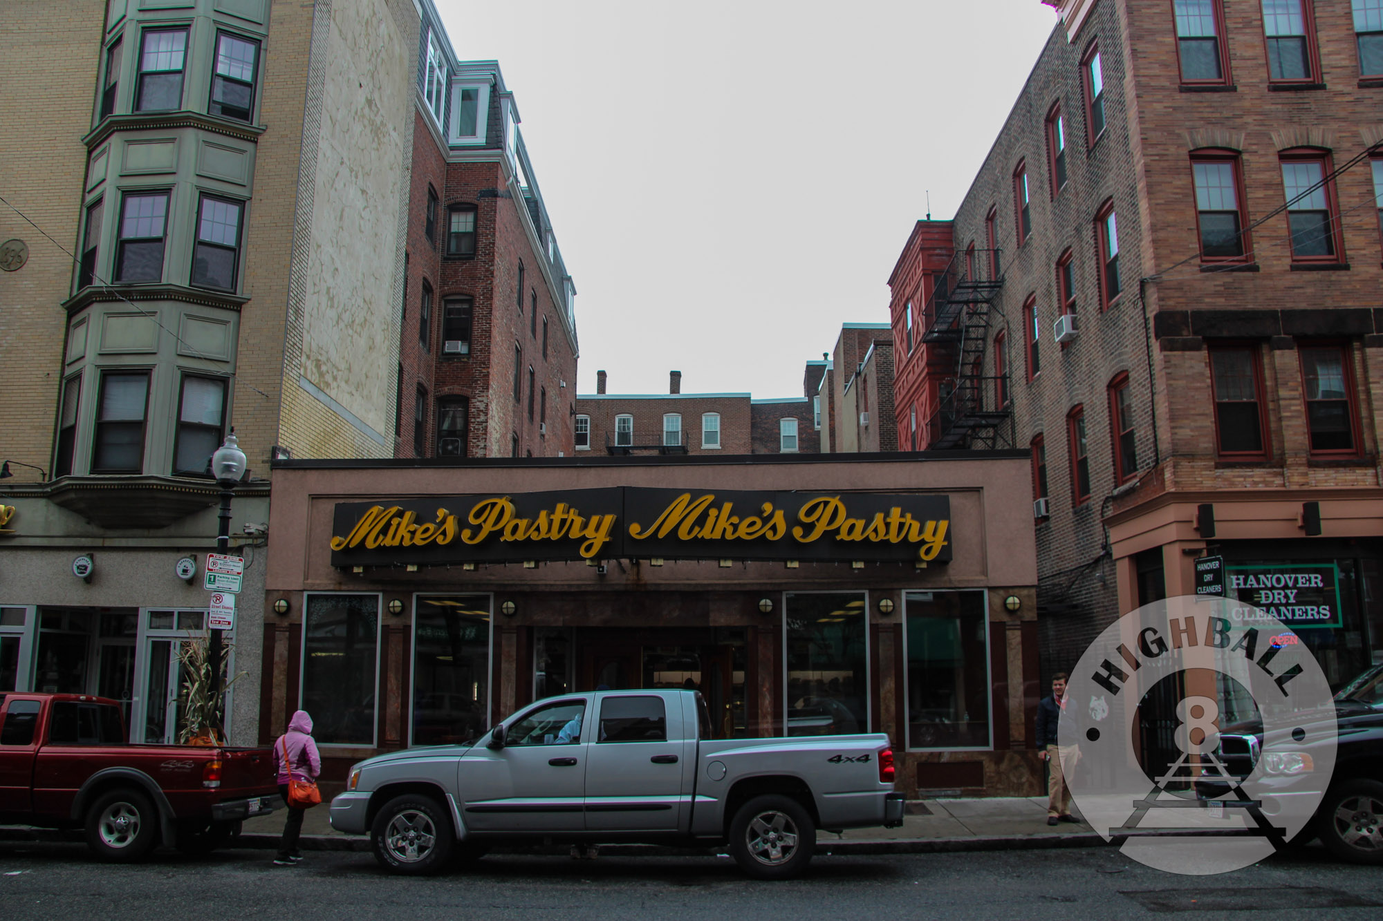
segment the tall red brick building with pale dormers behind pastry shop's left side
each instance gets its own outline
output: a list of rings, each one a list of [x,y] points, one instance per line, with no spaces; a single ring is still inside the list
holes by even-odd
[[[438,43],[449,76],[414,120],[394,456],[573,449],[575,286],[494,61]],[[426,86],[426,83],[425,83]]]

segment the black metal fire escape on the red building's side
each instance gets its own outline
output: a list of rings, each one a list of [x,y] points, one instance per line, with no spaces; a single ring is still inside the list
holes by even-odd
[[[928,448],[1012,447],[1007,369],[994,373],[993,357],[986,355],[993,342],[994,304],[1004,283],[999,256],[997,249],[956,253],[936,277],[922,308],[922,342],[931,351],[928,365],[940,369]]]

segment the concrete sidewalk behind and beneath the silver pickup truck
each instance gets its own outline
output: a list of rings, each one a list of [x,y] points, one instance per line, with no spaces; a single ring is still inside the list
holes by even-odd
[[[301,846],[313,850],[369,850],[368,835],[346,835],[326,820],[326,803],[308,809],[303,817]],[[284,810],[249,819],[236,842],[242,848],[277,848],[284,830]],[[1047,824],[1046,797],[987,797],[956,799],[914,799],[900,828],[855,828],[845,832],[820,831],[822,853],[931,853],[943,850],[1004,850],[1012,848],[1088,848],[1104,839],[1084,823]],[[496,853],[566,853],[561,846],[496,848]],[[679,848],[653,845],[604,845],[602,853],[687,853]]]

